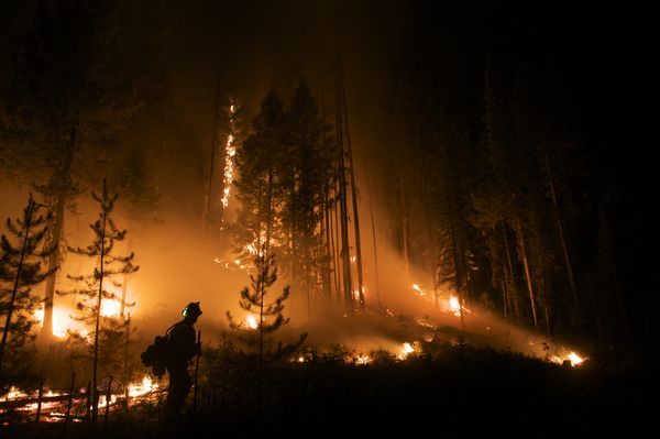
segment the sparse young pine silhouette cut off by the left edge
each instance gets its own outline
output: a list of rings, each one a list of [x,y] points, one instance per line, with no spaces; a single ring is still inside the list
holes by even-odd
[[[4,317],[0,371],[10,332],[12,351],[20,351],[33,339],[31,329],[38,299],[32,296],[31,286],[41,283],[53,273],[53,270],[42,268],[43,260],[54,251],[54,248],[43,249],[48,220],[47,217],[38,215],[43,207],[30,194],[28,206],[23,209],[23,218],[16,219],[15,222],[7,219],[7,229],[20,243],[12,244],[4,234],[0,238],[0,282],[8,284],[0,288],[0,314]],[[37,250],[40,246],[43,250]]]

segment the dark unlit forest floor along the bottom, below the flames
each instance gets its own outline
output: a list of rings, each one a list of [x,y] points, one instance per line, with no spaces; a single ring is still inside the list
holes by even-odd
[[[160,419],[161,399],[112,413],[105,428],[102,420],[95,430],[85,422],[69,425],[66,437],[594,437],[619,430],[636,437],[659,413],[660,380],[652,364],[587,361],[572,367],[488,348],[443,345],[405,361],[383,355],[355,364],[324,355],[265,363],[260,372],[235,351],[210,355],[218,366],[200,383],[196,411],[191,392],[187,414],[178,419]],[[61,438],[63,425],[9,425],[0,437]]]

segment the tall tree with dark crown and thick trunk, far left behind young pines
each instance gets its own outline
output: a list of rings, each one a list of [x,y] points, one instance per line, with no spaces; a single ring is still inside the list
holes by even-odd
[[[22,41],[18,41],[2,89],[7,154],[18,178],[38,184],[52,212],[46,234],[50,255],[44,334],[52,334],[55,272],[64,257],[67,207],[84,183],[114,163],[119,128],[140,107],[132,81],[118,70],[110,50],[118,4],[110,1],[38,2]]]

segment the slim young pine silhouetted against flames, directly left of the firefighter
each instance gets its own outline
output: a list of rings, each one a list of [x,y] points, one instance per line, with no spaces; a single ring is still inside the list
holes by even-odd
[[[95,240],[91,244],[86,248],[68,248],[70,252],[84,256],[91,257],[98,262],[98,266],[95,266],[94,273],[88,275],[79,275],[67,277],[72,281],[76,281],[84,285],[82,288],[72,289],[68,292],[57,292],[61,295],[80,295],[81,300],[78,301],[77,308],[81,311],[81,316],[76,319],[86,322],[87,325],[94,325],[95,330],[91,333],[94,337],[92,353],[92,389],[94,389],[94,407],[92,407],[92,420],[96,420],[98,416],[98,404],[99,391],[97,388],[97,370],[99,363],[99,344],[102,341],[105,347],[105,364],[108,361],[112,363],[112,359],[116,358],[113,353],[118,353],[122,347],[123,328],[127,325],[119,316],[119,307],[103,306],[103,299],[106,304],[119,305],[120,297],[107,288],[107,284],[103,281],[110,282],[114,287],[120,288],[121,282],[116,281],[114,277],[118,275],[134,273],[138,271],[138,266],[133,265],[134,254],[130,253],[128,256],[116,256],[112,254],[114,250],[114,243],[117,241],[123,241],[128,230],[119,230],[111,218],[112,210],[114,209],[114,202],[118,199],[118,195],[110,197],[106,187],[106,180],[103,179],[103,193],[99,197],[95,193],[91,194],[92,198],[100,205],[101,211],[99,218],[90,224],[91,230],[95,233]],[[124,306],[133,306],[134,304],[121,304]],[[117,312],[113,312],[116,308]],[[101,339],[102,337],[102,339]]]

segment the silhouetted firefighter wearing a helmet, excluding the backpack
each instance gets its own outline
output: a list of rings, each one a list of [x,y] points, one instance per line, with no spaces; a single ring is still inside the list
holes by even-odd
[[[167,338],[167,373],[169,373],[169,391],[165,402],[165,415],[176,418],[186,403],[193,381],[188,373],[190,360],[201,354],[201,343],[195,340],[193,325],[201,316],[199,301],[190,303],[182,311],[184,319],[176,323]]]

